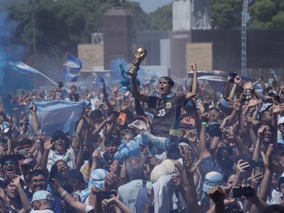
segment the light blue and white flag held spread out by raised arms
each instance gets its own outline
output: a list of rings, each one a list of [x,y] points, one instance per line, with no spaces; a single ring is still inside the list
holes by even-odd
[[[60,130],[75,135],[86,101],[41,101],[34,102],[38,115],[38,123],[45,136],[52,136]],[[32,132],[32,116],[29,115],[29,131]]]

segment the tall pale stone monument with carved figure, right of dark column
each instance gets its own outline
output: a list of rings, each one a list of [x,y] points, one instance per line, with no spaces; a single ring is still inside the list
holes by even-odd
[[[187,44],[193,29],[211,29],[210,0],[174,0],[173,31],[169,33],[171,49],[171,77],[187,77]],[[203,46],[202,46],[203,47]],[[210,58],[210,57],[209,57]],[[191,61],[193,62],[193,61]]]

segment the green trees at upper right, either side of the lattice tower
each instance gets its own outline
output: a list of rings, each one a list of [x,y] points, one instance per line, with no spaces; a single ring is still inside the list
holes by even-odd
[[[243,0],[213,0],[212,27],[216,29],[241,28]],[[284,29],[284,0],[255,0],[248,13],[250,29]]]

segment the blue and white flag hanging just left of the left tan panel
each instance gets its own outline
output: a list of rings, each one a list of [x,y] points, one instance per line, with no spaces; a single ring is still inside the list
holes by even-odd
[[[82,68],[82,61],[74,55],[67,53],[67,60],[64,65],[63,77],[69,82],[77,82],[80,70]]]

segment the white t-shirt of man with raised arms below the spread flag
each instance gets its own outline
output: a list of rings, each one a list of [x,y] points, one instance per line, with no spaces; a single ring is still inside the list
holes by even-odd
[[[47,159],[47,169],[50,171],[51,166],[58,160],[64,160],[67,163],[69,169],[75,168],[75,149],[73,147],[69,147],[67,151],[63,155],[56,154],[52,149],[49,151],[48,159]]]

